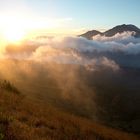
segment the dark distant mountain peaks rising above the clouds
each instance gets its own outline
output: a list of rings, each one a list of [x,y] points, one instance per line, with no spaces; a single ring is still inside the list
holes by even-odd
[[[79,36],[82,36],[82,37],[85,37],[87,39],[92,39],[93,36],[96,36],[98,34],[100,35],[104,35],[104,36],[107,36],[107,37],[111,37],[111,36],[114,36],[115,34],[117,33],[123,33],[123,32],[134,32],[133,36],[135,37],[140,37],[140,29],[138,27],[136,27],[135,25],[132,25],[132,24],[122,24],[122,25],[118,25],[110,30],[107,30],[105,32],[99,32],[99,31],[96,31],[96,30],[92,30],[92,31],[88,31],[84,34],[81,34]]]

